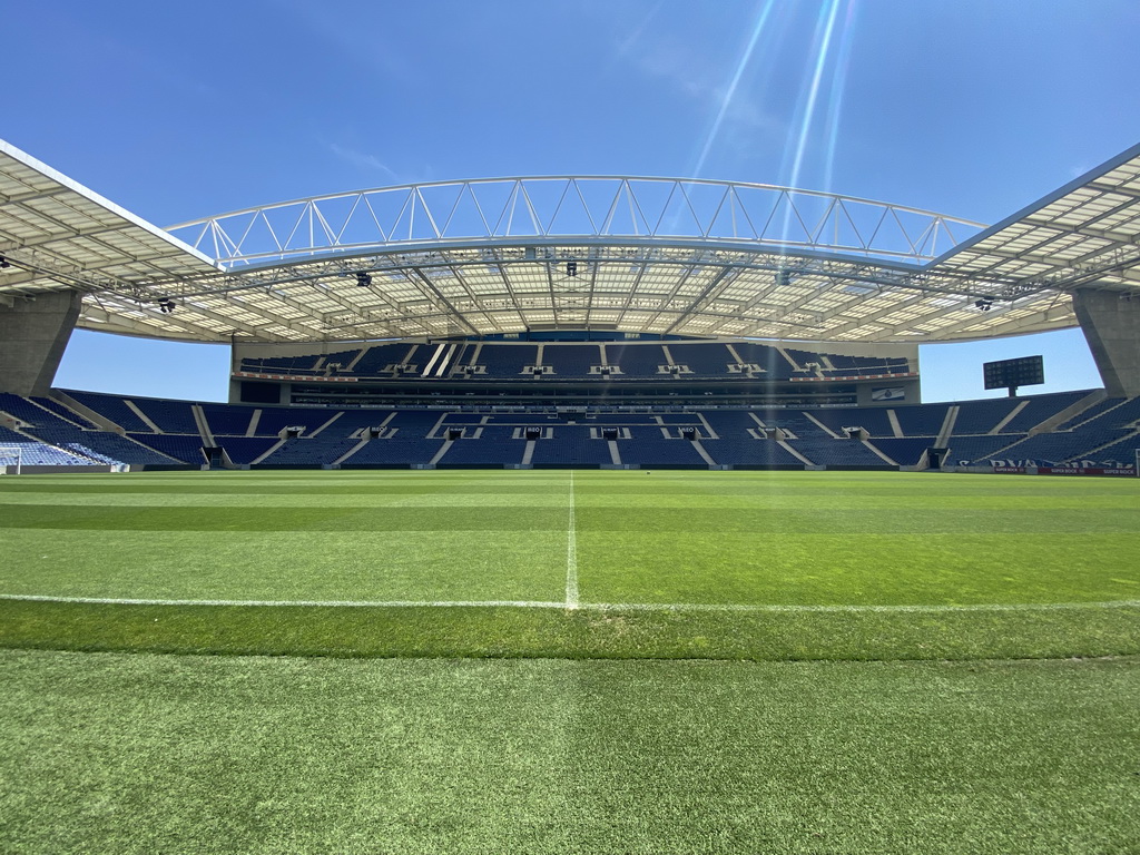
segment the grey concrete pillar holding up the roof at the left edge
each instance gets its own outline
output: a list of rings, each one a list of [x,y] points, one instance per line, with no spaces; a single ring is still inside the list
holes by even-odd
[[[48,393],[82,299],[75,291],[56,291],[0,303],[0,391]]]

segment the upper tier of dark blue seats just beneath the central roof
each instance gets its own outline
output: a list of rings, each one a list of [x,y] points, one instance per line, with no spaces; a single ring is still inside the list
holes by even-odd
[[[603,367],[613,370],[605,373]],[[781,348],[757,342],[581,342],[518,344],[437,342],[375,344],[361,350],[296,357],[245,357],[239,369],[254,374],[383,378],[575,380],[669,376],[732,378],[760,374],[771,380],[822,376],[905,375],[905,358],[855,357]]]

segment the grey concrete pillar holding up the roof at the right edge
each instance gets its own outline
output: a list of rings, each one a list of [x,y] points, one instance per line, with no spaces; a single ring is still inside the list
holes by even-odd
[[[1073,310],[1113,398],[1140,396],[1140,294],[1076,291]]]

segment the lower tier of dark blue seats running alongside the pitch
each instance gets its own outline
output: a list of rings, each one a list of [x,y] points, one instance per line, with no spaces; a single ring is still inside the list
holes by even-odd
[[[999,399],[894,408],[752,409],[701,413],[580,416],[576,423],[553,414],[473,414],[417,409],[256,408],[66,391],[60,399],[0,394],[0,416],[18,432],[0,445],[42,443],[41,455],[58,461],[147,465],[206,462],[207,441],[198,432],[201,407],[215,445],[238,465],[410,465],[606,464],[728,465],[899,465],[919,463],[947,424],[944,443],[952,462],[994,459],[1065,463],[1096,458],[1131,463],[1138,442],[1140,398],[1106,399],[1061,426],[1029,435],[1010,426],[1027,412],[1031,426],[1062,418],[1086,392],[1031,399]],[[67,401],[75,401],[83,413]],[[85,414],[85,415],[84,415]],[[145,417],[139,417],[142,414]],[[121,418],[127,424],[115,423]],[[1029,424],[1021,421],[1021,424]],[[109,423],[109,424],[108,424]],[[101,425],[101,426],[100,426]],[[145,430],[130,430],[142,426]],[[120,429],[120,430],[116,430]],[[542,439],[530,446],[527,427]],[[683,438],[695,431],[700,448]],[[868,442],[847,438],[860,427]],[[156,430],[157,429],[157,430]],[[286,430],[291,429],[291,430]],[[968,432],[963,433],[962,430]],[[455,439],[445,448],[449,437]],[[610,445],[610,443],[614,445]],[[49,453],[49,448],[56,449]],[[702,450],[705,454],[702,454]],[[529,454],[528,459],[523,459]]]

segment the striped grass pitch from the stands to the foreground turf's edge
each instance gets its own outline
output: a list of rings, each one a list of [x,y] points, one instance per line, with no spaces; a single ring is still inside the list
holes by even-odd
[[[56,600],[0,600],[0,643],[774,660],[1137,653],[1138,487],[829,472],[9,478],[0,594]]]

